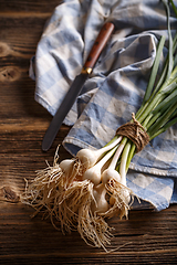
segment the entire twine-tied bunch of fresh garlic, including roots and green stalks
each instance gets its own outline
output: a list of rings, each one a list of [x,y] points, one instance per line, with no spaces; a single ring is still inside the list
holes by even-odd
[[[139,110],[132,114],[132,120],[121,126],[115,137],[100,150],[82,149],[75,158],[60,163],[56,150],[53,166],[38,171],[21,195],[23,203],[35,209],[35,214],[42,211],[55,227],[60,222],[63,233],[77,229],[87,244],[104,250],[112,237],[106,218],[127,219],[134,202],[135,194],[126,184],[132,158],[177,123],[177,34],[173,41],[169,6],[163,2],[167,10],[169,51],[157,82],[165,44],[165,36],[162,36]]]

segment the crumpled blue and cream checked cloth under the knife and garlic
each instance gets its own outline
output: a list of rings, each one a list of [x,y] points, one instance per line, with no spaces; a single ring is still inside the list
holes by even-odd
[[[54,115],[100,29],[110,20],[116,30],[64,120],[72,128],[63,146],[73,156],[81,148],[103,147],[139,108],[160,35],[166,36],[162,62],[167,53],[164,3],[159,0],[65,0],[48,21],[31,61],[35,100]],[[175,29],[177,20],[173,11],[170,23]],[[163,210],[177,202],[176,180],[177,125],[135,155],[127,186],[156,210]]]

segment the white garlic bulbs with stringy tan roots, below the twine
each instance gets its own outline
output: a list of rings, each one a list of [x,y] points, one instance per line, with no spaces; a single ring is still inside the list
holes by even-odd
[[[43,211],[62,231],[77,229],[87,244],[104,247],[110,244],[111,227],[105,218],[127,218],[132,191],[126,187],[124,159],[117,162],[125,139],[115,136],[98,150],[81,149],[73,159],[59,161],[40,170],[21,197],[37,212]],[[119,172],[121,173],[119,173]]]

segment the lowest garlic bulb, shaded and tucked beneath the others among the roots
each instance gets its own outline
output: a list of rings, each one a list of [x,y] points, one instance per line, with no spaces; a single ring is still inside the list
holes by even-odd
[[[105,199],[106,189],[103,183],[94,188],[93,195],[95,200],[92,202],[92,212],[106,213],[110,205]]]

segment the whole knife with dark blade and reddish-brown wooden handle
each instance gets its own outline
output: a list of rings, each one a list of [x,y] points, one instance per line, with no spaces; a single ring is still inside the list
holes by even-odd
[[[105,47],[113,31],[114,31],[113,22],[106,22],[102,26],[102,29],[93,44],[93,47],[88,54],[88,57],[81,71],[81,74],[77,75],[75,77],[75,80],[73,81],[69,92],[66,93],[63,102],[61,103],[59,109],[56,110],[55,115],[53,116],[53,119],[43,137],[43,141],[42,141],[42,150],[43,151],[48,151],[50,149],[50,147],[52,146],[53,140],[56,137],[58,131],[59,131],[65,116],[67,115],[71,107],[73,106],[76,97],[80,95],[85,81],[92,73],[92,70],[93,70],[98,56],[101,55],[103,49]]]

